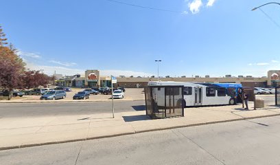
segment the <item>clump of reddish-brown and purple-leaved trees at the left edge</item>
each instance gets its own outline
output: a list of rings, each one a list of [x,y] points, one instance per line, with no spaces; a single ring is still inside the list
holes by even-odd
[[[8,90],[9,100],[12,98],[13,89],[46,87],[51,82],[51,77],[40,71],[26,71],[25,63],[16,54],[14,45],[8,45],[6,41],[0,26],[0,88]]]

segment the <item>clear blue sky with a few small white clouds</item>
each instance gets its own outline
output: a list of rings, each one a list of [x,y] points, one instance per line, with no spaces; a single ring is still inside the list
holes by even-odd
[[[280,69],[280,6],[251,11],[266,2],[0,0],[0,25],[49,75],[261,77]]]

